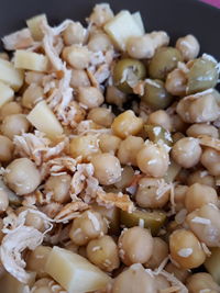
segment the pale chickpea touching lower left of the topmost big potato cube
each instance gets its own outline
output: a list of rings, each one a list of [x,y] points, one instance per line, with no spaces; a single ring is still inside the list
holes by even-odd
[[[90,36],[88,48],[91,52],[107,52],[108,49],[112,48],[112,43],[107,34],[96,33]]]

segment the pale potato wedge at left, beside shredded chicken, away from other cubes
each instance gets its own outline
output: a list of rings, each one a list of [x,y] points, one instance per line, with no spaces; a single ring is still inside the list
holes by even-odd
[[[63,133],[63,127],[45,101],[37,103],[26,119],[36,129],[55,138]]]

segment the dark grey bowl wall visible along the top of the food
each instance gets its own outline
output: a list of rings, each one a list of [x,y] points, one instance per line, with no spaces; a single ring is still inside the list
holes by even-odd
[[[65,19],[82,21],[89,15],[96,0],[7,0],[1,3],[0,36],[25,25],[25,20],[45,12],[51,24]],[[146,32],[164,30],[172,41],[191,33],[197,36],[201,52],[220,59],[220,10],[198,0],[109,0],[112,9],[140,10]]]

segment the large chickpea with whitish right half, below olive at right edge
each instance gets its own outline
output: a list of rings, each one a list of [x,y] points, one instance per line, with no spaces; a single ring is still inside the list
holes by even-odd
[[[219,116],[219,106],[212,93],[207,93],[199,99],[187,97],[182,99],[176,108],[177,114],[186,123],[212,122]]]

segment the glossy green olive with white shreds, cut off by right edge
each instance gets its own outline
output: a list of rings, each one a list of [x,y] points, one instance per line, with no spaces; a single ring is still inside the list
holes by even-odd
[[[198,58],[187,74],[187,94],[196,93],[216,87],[218,81],[217,64],[206,58]]]

